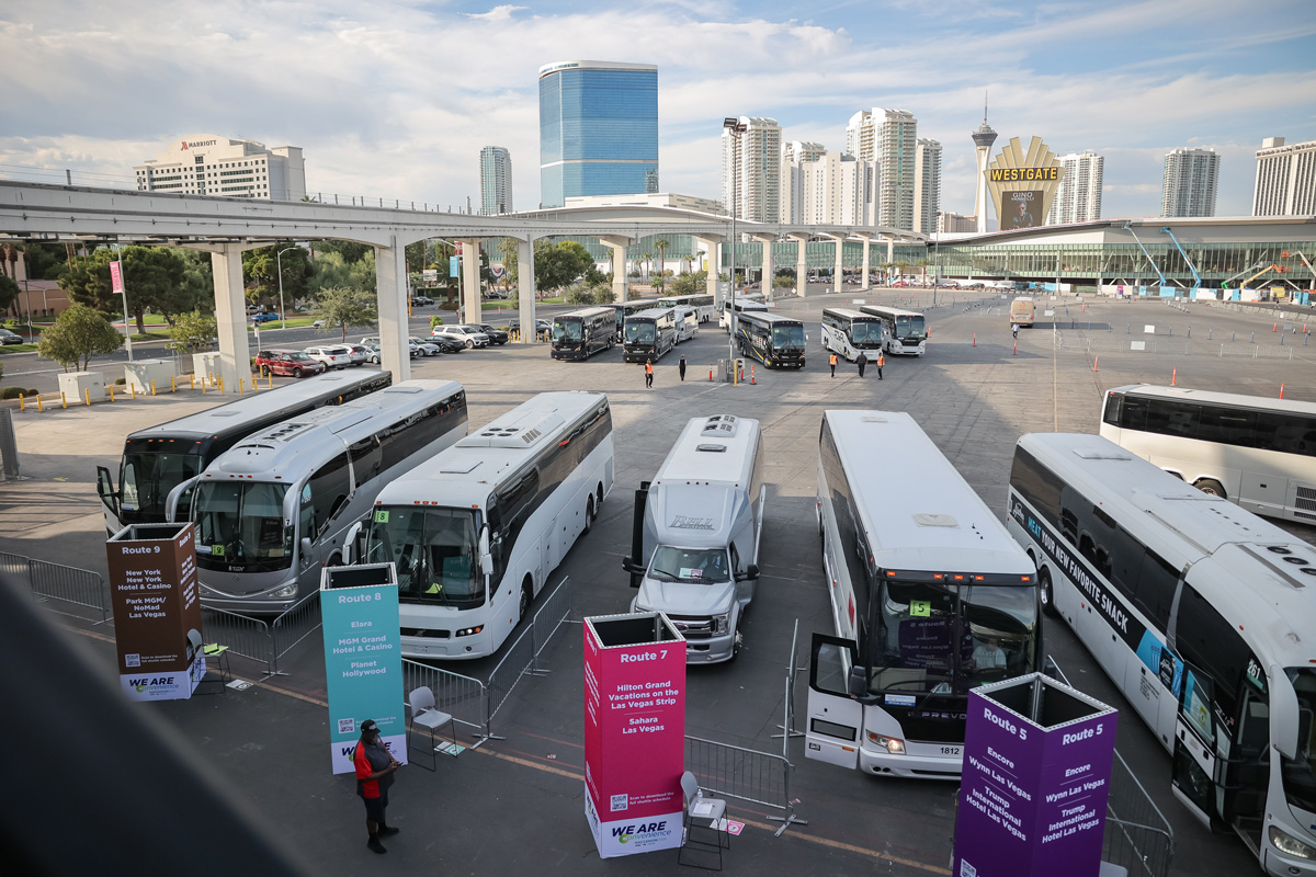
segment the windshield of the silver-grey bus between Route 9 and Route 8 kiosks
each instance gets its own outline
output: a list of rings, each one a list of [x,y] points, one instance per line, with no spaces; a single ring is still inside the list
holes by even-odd
[[[192,504],[196,564],[225,572],[292,565],[293,529],[283,517],[287,484],[203,481]]]

